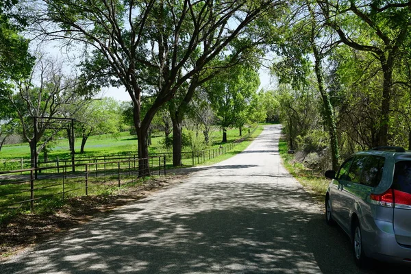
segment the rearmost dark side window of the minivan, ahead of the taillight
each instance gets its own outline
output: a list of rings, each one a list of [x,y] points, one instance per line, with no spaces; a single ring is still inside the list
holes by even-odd
[[[376,155],[367,156],[362,170],[360,184],[373,187],[378,186],[381,181],[384,162],[384,157]]]

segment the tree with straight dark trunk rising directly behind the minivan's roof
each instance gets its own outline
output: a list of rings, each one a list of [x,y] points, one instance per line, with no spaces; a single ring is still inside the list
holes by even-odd
[[[410,1],[317,1],[327,25],[345,45],[372,53],[382,70],[382,101],[374,146],[388,145],[393,71],[410,39]]]

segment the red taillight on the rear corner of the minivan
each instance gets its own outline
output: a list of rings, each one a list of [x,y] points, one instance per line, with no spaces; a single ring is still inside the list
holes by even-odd
[[[411,208],[411,194],[392,188],[382,194],[371,194],[370,199],[371,203],[387,208]]]

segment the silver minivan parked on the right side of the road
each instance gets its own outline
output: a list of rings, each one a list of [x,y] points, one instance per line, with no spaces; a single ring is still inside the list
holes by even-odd
[[[411,152],[400,147],[358,152],[325,177],[332,179],[326,221],[350,236],[356,264],[374,258],[411,265]]]

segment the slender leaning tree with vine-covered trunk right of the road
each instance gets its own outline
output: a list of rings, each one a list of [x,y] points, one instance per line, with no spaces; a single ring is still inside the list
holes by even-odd
[[[340,157],[334,106],[325,83],[323,60],[329,55],[335,43],[325,29],[312,1],[302,1],[291,14],[299,14],[289,21],[282,34],[282,42],[275,46],[282,60],[277,62],[275,72],[280,82],[290,83],[294,88],[308,84],[308,75],[314,72],[316,86],[323,101],[323,121],[327,125],[329,147],[332,151],[332,168],[338,169]],[[312,59],[314,63],[310,61]],[[289,65],[292,66],[289,66]]]

